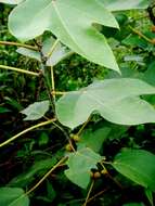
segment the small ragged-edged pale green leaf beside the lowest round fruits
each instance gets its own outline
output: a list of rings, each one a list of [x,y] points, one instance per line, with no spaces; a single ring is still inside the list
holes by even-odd
[[[91,149],[85,147],[69,155],[65,170],[66,177],[82,189],[87,189],[90,182],[90,169],[96,168],[96,163],[102,157]]]

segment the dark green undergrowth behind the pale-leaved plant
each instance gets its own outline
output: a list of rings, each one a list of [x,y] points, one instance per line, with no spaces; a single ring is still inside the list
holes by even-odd
[[[11,10],[12,5],[0,3],[0,65],[37,73],[38,61],[17,53],[16,46],[2,43],[2,41],[16,42],[8,30],[8,15]],[[116,12],[115,17],[119,23],[119,30],[104,26],[99,26],[98,29],[107,38],[122,77],[139,78],[155,86],[155,17],[152,12],[154,12],[153,9]],[[46,33],[42,38],[46,39],[49,36],[50,34]],[[40,39],[38,38],[37,41],[39,42]],[[30,43],[34,44],[34,41]],[[119,78],[119,75],[78,54],[70,55],[54,67],[55,88],[62,92],[78,90],[96,79],[113,77]],[[25,115],[21,111],[34,102],[47,99],[49,99],[49,93],[41,78],[0,69],[0,141],[4,142],[31,125],[39,124],[40,119],[34,120],[33,124],[25,121]],[[153,95],[146,96],[146,100],[154,105]],[[51,111],[41,117],[42,121],[50,118]],[[72,137],[69,141],[75,147],[79,141],[78,138],[80,138],[79,142],[88,141],[87,144],[100,151],[107,162],[113,160],[115,155],[125,147],[146,150],[155,154],[154,124],[119,126],[106,121],[96,114],[89,119],[82,131],[80,127],[70,131],[67,128],[61,130],[57,125],[47,125],[25,133],[0,149],[1,188],[23,188],[25,191],[33,189],[64,154],[72,151],[65,132]],[[78,133],[79,137],[73,133]],[[145,160],[142,164],[145,164]],[[118,173],[111,165],[106,166],[106,169],[101,166],[92,169],[94,184],[90,191],[91,183],[87,190],[83,190],[69,181],[64,175],[67,166],[61,163],[39,186],[30,191],[30,205],[79,206],[85,202],[95,206],[153,205],[154,194],[152,192]],[[1,196],[0,198],[2,199]],[[2,206],[8,206],[8,204]]]

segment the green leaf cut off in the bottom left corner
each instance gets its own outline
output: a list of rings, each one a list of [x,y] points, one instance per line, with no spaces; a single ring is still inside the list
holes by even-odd
[[[28,206],[28,196],[23,189],[0,188],[0,206]]]

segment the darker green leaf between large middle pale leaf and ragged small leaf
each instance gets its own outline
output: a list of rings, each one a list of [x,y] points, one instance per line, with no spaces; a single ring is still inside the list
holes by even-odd
[[[98,153],[100,152],[102,144],[108,137],[109,132],[111,132],[109,127],[99,128],[94,131],[92,129],[87,129],[82,132],[78,145],[85,144],[85,146]]]

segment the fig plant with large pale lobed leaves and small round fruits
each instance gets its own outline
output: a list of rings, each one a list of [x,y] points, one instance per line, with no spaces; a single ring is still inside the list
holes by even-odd
[[[122,14],[122,11],[128,10],[145,11],[152,7],[151,2],[147,0],[0,0],[0,2],[11,4],[8,28],[16,38],[15,42],[0,41],[0,44],[15,46],[17,53],[37,62],[36,68],[31,69],[10,65],[0,65],[0,68],[38,78],[39,82],[44,83],[47,92],[42,101],[31,102],[20,111],[24,120],[30,121],[31,126],[1,142],[0,147],[3,150],[24,134],[49,125],[60,130],[61,140],[63,136],[61,150],[54,150],[52,156],[36,163],[29,171],[20,175],[0,189],[0,205],[31,205],[29,201],[31,193],[44,181],[48,182],[48,201],[53,202],[55,192],[48,178],[60,168],[63,168],[61,172],[65,175],[62,182],[72,182],[86,195],[85,199],[68,205],[81,205],[82,201],[86,206],[93,201],[95,197],[91,199],[90,194],[102,179],[109,179],[124,190],[119,177],[132,182],[131,186],[143,188],[147,204],[153,205],[155,155],[130,145],[124,145],[117,154],[112,155],[112,158],[101,152],[103,143],[111,139],[119,139],[131,126],[155,123],[152,100],[155,94],[152,77],[155,65],[153,61],[155,35],[140,33],[132,27],[132,22],[128,20],[126,13]],[[116,42],[112,43],[111,37]],[[125,73],[119,65],[119,51],[113,52],[115,43],[116,47],[120,43],[124,47],[135,46],[145,55],[152,54],[148,68],[144,73],[128,68],[128,74]],[[102,66],[103,70],[106,70],[105,77],[95,79],[80,89],[60,91],[55,87],[57,65],[73,57],[75,53]],[[148,56],[144,57],[148,60]],[[138,65],[143,63],[141,55],[126,56],[126,62],[128,61],[133,61]],[[42,141],[48,141],[44,133]],[[41,178],[33,185],[37,175]],[[107,180],[106,182],[108,183]],[[33,186],[29,188],[30,185]],[[102,188],[107,188],[108,193],[108,185]]]

